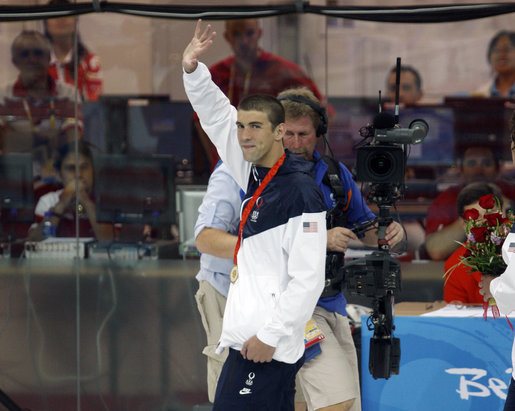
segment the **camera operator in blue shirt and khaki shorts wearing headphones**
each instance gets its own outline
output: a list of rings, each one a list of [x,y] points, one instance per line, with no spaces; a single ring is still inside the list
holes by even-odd
[[[321,157],[315,149],[318,139],[327,131],[327,116],[319,100],[304,88],[283,91],[278,99],[286,113],[284,146],[314,163],[314,177],[328,210],[331,210],[328,215],[333,216],[327,227],[328,252],[345,253],[349,242],[358,240],[351,227],[375,216],[366,206],[350,171],[334,159]],[[385,240],[390,247],[403,237],[398,222],[392,222],[386,228]],[[377,230],[366,231],[361,241],[377,247]],[[343,259],[340,261],[343,263]],[[326,271],[330,268],[327,264]],[[357,354],[347,319],[346,301],[341,288],[338,291],[335,288],[338,285],[330,290],[326,287],[313,314],[325,335],[320,342],[322,352],[306,362],[297,374],[309,410],[361,409]],[[302,400],[300,394],[297,386],[296,403]],[[297,406],[296,409],[300,409],[300,404]]]

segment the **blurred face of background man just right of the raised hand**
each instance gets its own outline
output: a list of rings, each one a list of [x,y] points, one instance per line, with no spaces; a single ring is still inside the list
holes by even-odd
[[[252,61],[257,57],[262,34],[257,20],[237,20],[227,23],[224,36],[236,57]]]

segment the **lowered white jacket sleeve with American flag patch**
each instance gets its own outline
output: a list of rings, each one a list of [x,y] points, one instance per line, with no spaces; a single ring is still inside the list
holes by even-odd
[[[313,315],[324,288],[325,214],[325,211],[304,213],[288,221],[283,252],[288,254],[290,280],[277,301],[272,319],[257,333],[268,345],[277,347],[282,336],[291,335],[299,323],[305,324]]]

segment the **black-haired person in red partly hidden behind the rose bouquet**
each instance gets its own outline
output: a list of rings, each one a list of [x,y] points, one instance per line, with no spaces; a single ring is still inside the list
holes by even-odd
[[[488,194],[499,199],[501,208],[503,207],[501,190],[495,184],[471,183],[460,191],[456,201],[456,210],[464,230],[466,222],[462,217],[463,212],[475,208],[482,218],[485,209],[479,206],[479,199]],[[492,210],[492,212],[496,211],[502,212],[502,210]],[[448,303],[482,304],[483,296],[479,294],[481,273],[471,272],[467,266],[461,263],[461,257],[465,255],[466,250],[464,246],[459,246],[445,262],[445,273],[448,275],[443,286],[443,299]]]

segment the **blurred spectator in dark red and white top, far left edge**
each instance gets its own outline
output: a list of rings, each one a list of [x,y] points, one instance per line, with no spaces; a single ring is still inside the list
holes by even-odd
[[[81,128],[75,93],[48,74],[50,43],[41,33],[21,32],[11,56],[19,75],[14,84],[0,88],[0,150],[31,152],[34,176],[52,179],[57,148],[75,137],[75,118]]]

